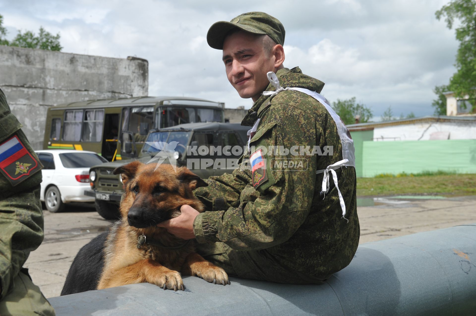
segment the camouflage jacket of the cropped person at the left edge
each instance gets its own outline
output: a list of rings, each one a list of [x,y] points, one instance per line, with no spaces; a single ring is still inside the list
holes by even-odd
[[[5,95],[0,90],[0,145],[11,137],[17,137],[25,152],[30,153],[29,159],[38,163],[34,170],[31,168],[31,172],[20,177],[21,181],[13,183],[6,172],[0,172],[0,300],[12,290],[13,279],[28,259],[30,251],[37,249],[43,241],[40,202],[42,166],[20,128],[21,124],[11,114]]]

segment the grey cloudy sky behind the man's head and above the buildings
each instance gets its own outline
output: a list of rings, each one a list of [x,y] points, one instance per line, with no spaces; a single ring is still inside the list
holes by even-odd
[[[149,95],[252,105],[228,83],[206,34],[218,20],[265,11],[286,29],[285,67],[326,83],[329,101],[355,96],[380,116],[431,115],[432,89],[447,84],[458,43],[435,18],[448,0],[0,0],[4,27],[60,32],[62,51],[149,60]],[[376,117],[377,118],[377,117]]]

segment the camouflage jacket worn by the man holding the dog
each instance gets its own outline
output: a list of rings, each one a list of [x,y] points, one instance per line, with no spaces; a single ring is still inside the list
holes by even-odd
[[[296,67],[278,70],[283,87],[302,87],[320,92],[324,83],[303,75]],[[267,91],[275,88],[268,86]],[[255,148],[263,146],[333,146],[329,155],[292,155],[274,151],[264,153],[266,168],[256,175],[249,168],[237,168],[232,174],[210,177],[208,187],[195,194],[208,210],[194,221],[199,243],[221,241],[231,249],[266,249],[268,260],[304,275],[328,278],[345,268],[354,257],[359,239],[356,207],[356,172],[354,167],[336,170],[339,189],[347,208],[342,218],[338,193],[330,183],[329,192],[321,195],[323,174],[317,170],[342,160],[342,145],[337,127],[326,108],[302,92],[283,91],[270,98],[261,96],[248,111],[242,125],[253,125],[260,118],[251,138],[247,162]],[[296,153],[296,152],[294,152]],[[301,154],[299,150],[297,153]],[[274,159],[307,159],[305,171],[272,168]],[[257,177],[253,179],[253,176]]]

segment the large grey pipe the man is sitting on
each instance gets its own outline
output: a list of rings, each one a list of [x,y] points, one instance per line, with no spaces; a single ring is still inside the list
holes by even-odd
[[[476,225],[360,245],[323,285],[184,278],[185,291],[142,283],[50,298],[57,315],[472,315]]]

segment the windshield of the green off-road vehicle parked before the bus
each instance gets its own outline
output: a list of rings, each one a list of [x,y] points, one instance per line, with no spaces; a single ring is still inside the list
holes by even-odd
[[[191,132],[154,132],[147,137],[142,153],[158,153],[161,150],[185,153]]]

